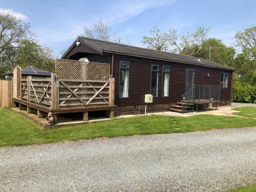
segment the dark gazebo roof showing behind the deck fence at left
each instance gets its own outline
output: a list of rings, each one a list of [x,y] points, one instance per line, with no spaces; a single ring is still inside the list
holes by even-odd
[[[3,73],[2,75],[13,75],[13,72],[9,71],[6,73]],[[38,77],[50,77],[51,76],[51,72],[49,71],[45,71],[45,70],[41,70],[35,67],[26,67],[24,69],[22,69],[22,75],[24,76],[38,76]]]

